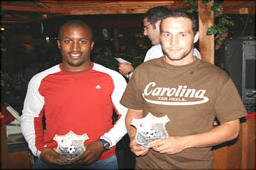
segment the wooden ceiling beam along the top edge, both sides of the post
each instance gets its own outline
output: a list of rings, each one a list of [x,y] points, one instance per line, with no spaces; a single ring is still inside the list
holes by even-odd
[[[252,14],[255,15],[255,1],[253,0],[224,0],[220,3],[224,7],[224,14]],[[17,12],[20,18],[22,15],[44,14],[47,17],[38,15],[38,20],[47,19],[55,15],[102,15],[102,14],[144,14],[148,9],[155,6],[167,6],[172,10],[185,9],[182,0],[170,1],[147,1],[147,0],[101,0],[101,1],[68,1],[68,0],[41,0],[41,1],[2,1],[1,8],[4,14]],[[19,16],[17,16],[19,18]],[[14,21],[19,20],[13,18]],[[10,22],[11,18],[2,16],[2,22]],[[23,20],[23,19],[20,19]],[[28,20],[27,22],[30,22]]]

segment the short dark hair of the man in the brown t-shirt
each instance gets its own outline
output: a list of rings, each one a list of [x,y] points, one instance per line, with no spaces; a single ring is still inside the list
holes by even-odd
[[[198,24],[195,17],[192,14],[189,14],[188,12],[179,11],[179,10],[169,11],[166,13],[166,15],[163,16],[162,20],[166,18],[179,18],[179,17],[187,18],[191,20],[193,32],[196,33],[198,31]],[[162,32],[162,21],[160,24],[160,32]]]

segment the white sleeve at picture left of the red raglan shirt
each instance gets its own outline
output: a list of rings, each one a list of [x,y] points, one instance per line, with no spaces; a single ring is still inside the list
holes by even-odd
[[[36,135],[39,138],[43,138],[43,128],[35,131],[35,126],[42,126],[43,124],[42,120],[38,118],[42,116],[42,109],[45,103],[44,96],[42,96],[39,92],[39,87],[41,86],[42,80],[47,75],[56,73],[57,71],[60,71],[59,65],[53,66],[41,73],[34,75],[28,83],[27,94],[24,100],[20,128],[32,154],[38,156],[38,158],[40,158],[40,150],[42,150],[44,144],[42,141],[36,142]]]

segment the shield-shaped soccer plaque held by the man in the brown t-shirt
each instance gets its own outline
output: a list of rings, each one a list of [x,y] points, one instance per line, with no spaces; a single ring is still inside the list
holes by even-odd
[[[135,141],[142,146],[148,146],[151,142],[168,137],[165,125],[170,122],[167,115],[156,117],[148,112],[144,118],[133,118],[131,125],[135,126],[137,133]]]

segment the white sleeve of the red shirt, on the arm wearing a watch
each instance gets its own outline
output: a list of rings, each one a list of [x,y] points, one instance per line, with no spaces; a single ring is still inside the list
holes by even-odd
[[[113,128],[105,133],[101,138],[108,141],[110,143],[110,147],[112,147],[115,146],[117,142],[120,141],[122,137],[127,133],[125,126],[125,116],[128,109],[120,103],[120,100],[127,86],[126,80],[121,74],[117,72],[110,76],[112,76],[114,82],[114,91],[111,98],[115,109],[117,110],[118,114],[120,114],[120,117],[117,122],[115,122]]]

